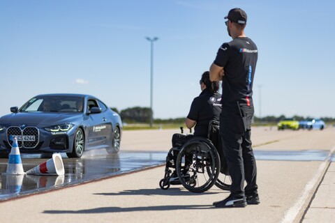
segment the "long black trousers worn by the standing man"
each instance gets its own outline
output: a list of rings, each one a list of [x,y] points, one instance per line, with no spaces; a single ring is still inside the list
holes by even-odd
[[[257,167],[251,142],[253,107],[223,107],[220,136],[228,171],[232,178],[230,192],[236,197],[258,193]],[[246,181],[246,187],[244,187]]]

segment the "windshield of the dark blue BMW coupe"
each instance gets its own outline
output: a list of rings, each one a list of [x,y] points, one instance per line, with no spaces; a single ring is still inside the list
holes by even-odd
[[[80,97],[46,95],[31,98],[20,112],[82,112],[83,103]]]

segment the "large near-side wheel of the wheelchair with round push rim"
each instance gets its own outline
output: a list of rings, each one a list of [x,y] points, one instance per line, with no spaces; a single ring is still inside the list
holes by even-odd
[[[205,192],[216,183],[220,173],[220,157],[210,141],[193,138],[179,151],[176,169],[186,190]]]

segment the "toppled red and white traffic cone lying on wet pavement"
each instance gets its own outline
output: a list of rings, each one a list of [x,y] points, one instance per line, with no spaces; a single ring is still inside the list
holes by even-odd
[[[33,169],[29,169],[26,174],[34,174],[34,175],[64,175],[64,164],[63,160],[61,160],[61,155],[59,153],[52,154],[52,158],[43,162],[43,164],[39,164]]]

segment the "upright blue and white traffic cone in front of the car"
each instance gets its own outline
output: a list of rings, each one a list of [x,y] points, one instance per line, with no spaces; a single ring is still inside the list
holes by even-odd
[[[6,174],[8,175],[22,175],[24,174],[22,160],[19,146],[17,146],[17,139],[13,139],[12,149],[9,154]]]

